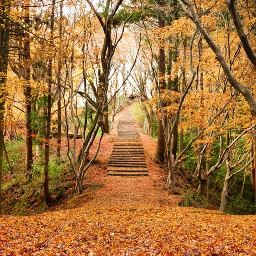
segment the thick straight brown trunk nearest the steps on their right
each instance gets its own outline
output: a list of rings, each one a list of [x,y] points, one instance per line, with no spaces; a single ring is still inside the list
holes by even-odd
[[[164,6],[164,0],[158,0],[158,4],[159,4],[159,6]],[[158,10],[158,24],[159,24],[160,28],[164,28],[164,13],[161,10]],[[160,90],[166,89],[165,63],[164,62],[165,62],[164,47],[160,45],[160,49],[159,49],[159,85],[160,85]],[[161,113],[160,107],[159,107],[159,113]],[[158,119],[156,159],[161,164],[164,163],[164,153],[165,153],[164,128],[163,128],[162,120]]]

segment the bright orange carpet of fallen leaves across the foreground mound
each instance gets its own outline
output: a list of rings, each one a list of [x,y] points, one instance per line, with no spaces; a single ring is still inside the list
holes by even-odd
[[[92,202],[0,222],[1,255],[256,255],[255,217],[191,208]]]

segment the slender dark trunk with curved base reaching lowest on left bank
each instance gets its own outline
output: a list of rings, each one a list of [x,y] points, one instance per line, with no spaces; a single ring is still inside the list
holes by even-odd
[[[52,15],[51,15],[51,38],[54,32],[54,9],[55,0],[52,0]],[[47,205],[52,203],[52,198],[49,191],[49,154],[50,154],[50,133],[51,133],[51,109],[52,109],[52,58],[48,62],[48,97],[47,97],[47,118],[46,118],[46,142],[45,142],[45,157],[44,157],[44,197]]]

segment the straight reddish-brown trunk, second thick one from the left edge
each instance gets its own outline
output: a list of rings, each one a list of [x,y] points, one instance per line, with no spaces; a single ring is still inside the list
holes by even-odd
[[[30,1],[24,1],[24,22],[26,27],[30,26]],[[33,150],[32,150],[32,124],[31,124],[31,86],[30,86],[30,36],[27,31],[24,31],[24,78],[26,84],[24,87],[25,95],[25,113],[26,113],[26,175],[30,179],[32,176],[31,169],[33,163]]]

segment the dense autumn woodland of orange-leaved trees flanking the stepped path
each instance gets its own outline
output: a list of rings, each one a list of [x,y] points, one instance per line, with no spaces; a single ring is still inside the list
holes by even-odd
[[[254,214],[255,52],[255,0],[2,0],[0,210],[82,194],[132,104],[170,193]]]

